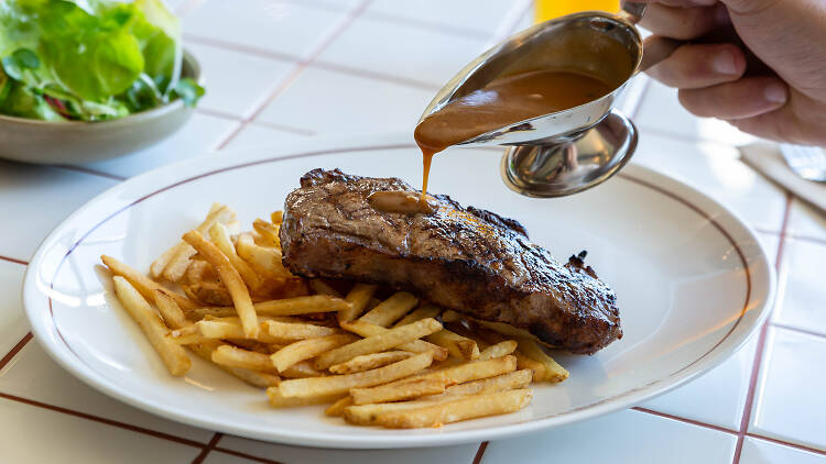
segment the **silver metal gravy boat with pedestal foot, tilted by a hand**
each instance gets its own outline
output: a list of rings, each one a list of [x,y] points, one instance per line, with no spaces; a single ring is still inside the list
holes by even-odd
[[[635,24],[644,3],[624,2],[619,14],[589,11],[529,27],[485,52],[438,91],[420,122],[450,101],[498,77],[530,70],[578,71],[615,84],[596,100],[517,122],[459,143],[507,145],[502,179],[529,197],[577,194],[610,178],[628,163],[638,132],[613,108],[629,79],[667,57],[678,45],[660,41],[645,49]]]

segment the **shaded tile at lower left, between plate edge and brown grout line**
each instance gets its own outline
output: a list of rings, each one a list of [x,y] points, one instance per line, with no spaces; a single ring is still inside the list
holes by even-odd
[[[214,433],[162,419],[98,393],[52,361],[34,340],[0,371],[0,391],[202,443]]]

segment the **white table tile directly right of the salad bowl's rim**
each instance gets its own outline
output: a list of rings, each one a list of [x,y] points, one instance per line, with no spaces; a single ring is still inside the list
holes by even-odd
[[[247,118],[263,104],[273,89],[296,66],[189,41],[186,45],[200,63],[207,92],[198,108]]]

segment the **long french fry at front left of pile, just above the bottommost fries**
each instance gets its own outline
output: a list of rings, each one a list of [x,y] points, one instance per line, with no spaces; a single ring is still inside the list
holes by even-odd
[[[350,388],[372,387],[407,377],[430,366],[431,363],[433,363],[433,353],[421,353],[398,363],[358,374],[283,380],[279,389],[286,398],[343,395]]]

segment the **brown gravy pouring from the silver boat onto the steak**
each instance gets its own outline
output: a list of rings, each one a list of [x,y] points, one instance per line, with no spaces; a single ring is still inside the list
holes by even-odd
[[[371,200],[371,205],[389,212],[431,212],[425,196],[433,155],[486,132],[578,107],[613,89],[613,85],[598,78],[558,70],[536,70],[494,79],[446,104],[416,126],[414,136],[422,148],[424,170],[420,207],[416,209],[410,202],[412,192],[381,192],[379,197],[382,199]]]

